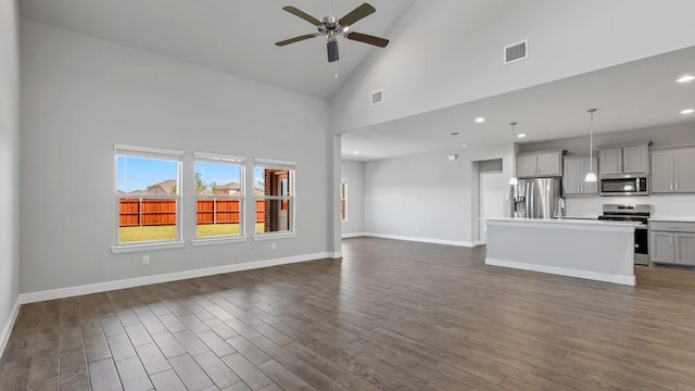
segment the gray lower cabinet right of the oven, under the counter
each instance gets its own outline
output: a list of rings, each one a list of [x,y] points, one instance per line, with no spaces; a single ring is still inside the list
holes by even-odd
[[[649,260],[695,265],[695,223],[649,222]]]

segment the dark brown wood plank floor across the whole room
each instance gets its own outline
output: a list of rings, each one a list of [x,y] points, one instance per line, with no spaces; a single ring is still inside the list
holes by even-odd
[[[23,305],[0,390],[695,390],[695,272],[626,287],[371,238]]]

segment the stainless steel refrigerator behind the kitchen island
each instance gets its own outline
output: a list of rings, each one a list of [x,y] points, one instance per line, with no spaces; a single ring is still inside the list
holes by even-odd
[[[511,185],[511,217],[556,218],[565,215],[560,178],[519,179]]]

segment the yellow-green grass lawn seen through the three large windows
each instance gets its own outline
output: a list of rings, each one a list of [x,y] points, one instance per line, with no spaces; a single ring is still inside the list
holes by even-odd
[[[263,223],[256,224],[256,232],[263,232]],[[210,224],[195,227],[195,238],[214,238],[229,235],[239,235],[239,224]],[[121,243],[164,240],[176,240],[176,226],[118,228],[118,241]]]

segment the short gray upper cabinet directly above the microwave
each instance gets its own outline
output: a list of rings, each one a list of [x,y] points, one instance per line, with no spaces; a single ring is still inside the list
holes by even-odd
[[[649,174],[649,143],[598,147],[601,174]]]

